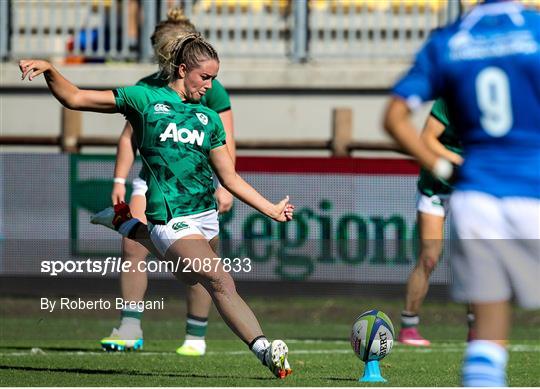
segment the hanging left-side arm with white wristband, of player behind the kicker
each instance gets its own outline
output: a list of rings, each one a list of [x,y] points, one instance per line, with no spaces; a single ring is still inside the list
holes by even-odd
[[[118,146],[116,150],[116,161],[114,165],[114,178],[113,190],[111,193],[111,200],[113,204],[118,204],[125,201],[126,196],[126,184],[116,179],[126,179],[131,170],[131,166],[135,162],[135,144],[133,142],[133,127],[126,121],[124,130],[118,139]]]

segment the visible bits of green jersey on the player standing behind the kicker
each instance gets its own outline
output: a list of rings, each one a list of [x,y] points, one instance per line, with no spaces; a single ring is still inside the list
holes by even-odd
[[[163,88],[167,86],[168,81],[159,77],[159,73],[156,72],[137,81],[138,86],[144,86],[147,88]],[[212,80],[212,88],[208,89],[205,95],[201,99],[201,104],[210,108],[217,113],[225,112],[231,109],[231,99],[225,87],[216,79]],[[139,178],[147,181],[148,171],[145,165],[142,166],[139,172]]]

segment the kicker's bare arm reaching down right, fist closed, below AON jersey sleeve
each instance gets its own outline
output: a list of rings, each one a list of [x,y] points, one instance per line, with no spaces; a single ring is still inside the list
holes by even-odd
[[[292,220],[294,206],[289,204],[289,196],[277,204],[272,204],[261,196],[259,192],[236,173],[227,146],[212,149],[210,161],[221,185],[235,197],[276,221],[286,222]]]

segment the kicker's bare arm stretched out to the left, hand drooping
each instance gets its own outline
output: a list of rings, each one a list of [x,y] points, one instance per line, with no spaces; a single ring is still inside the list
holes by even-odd
[[[77,88],[49,62],[39,59],[23,59],[19,61],[22,79],[28,77],[32,81],[43,73],[47,86],[56,99],[66,108],[77,111],[94,111],[104,113],[117,112],[114,94],[111,90],[95,91]]]

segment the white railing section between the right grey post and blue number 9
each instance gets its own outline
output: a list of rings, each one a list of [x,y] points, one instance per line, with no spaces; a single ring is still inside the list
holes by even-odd
[[[448,21],[447,1],[312,1],[311,58],[410,58]]]

